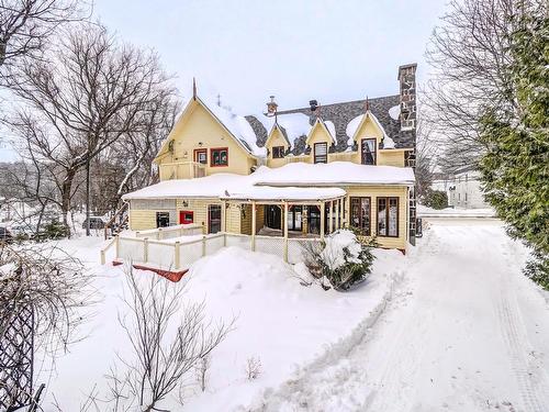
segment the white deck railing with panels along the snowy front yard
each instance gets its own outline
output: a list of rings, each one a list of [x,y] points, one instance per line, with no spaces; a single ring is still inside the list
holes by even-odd
[[[163,231],[164,232],[164,231]],[[143,232],[142,232],[143,233]],[[142,234],[141,233],[141,234]],[[149,232],[155,235],[156,232]],[[166,235],[166,233],[164,233]],[[101,250],[101,264],[105,264],[107,253],[114,248],[114,260],[132,261],[169,271],[184,271],[201,257],[213,255],[225,246],[237,246],[246,250],[277,255],[290,264],[303,260],[304,245],[320,242],[320,238],[284,238],[280,236],[250,236],[234,233],[180,236],[176,242],[148,237],[124,237],[116,235]]]

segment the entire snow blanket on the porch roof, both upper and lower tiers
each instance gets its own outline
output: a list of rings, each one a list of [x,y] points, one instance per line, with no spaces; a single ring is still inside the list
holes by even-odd
[[[278,168],[261,166],[247,176],[215,174],[197,179],[164,180],[124,194],[122,199],[332,199],[345,194],[338,186],[410,186],[414,181],[414,171],[408,167],[366,166],[349,162],[292,163]]]

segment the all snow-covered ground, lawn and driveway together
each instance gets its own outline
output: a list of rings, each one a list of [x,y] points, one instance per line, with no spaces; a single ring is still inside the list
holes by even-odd
[[[123,270],[100,267],[99,238],[63,241],[102,297],[88,337],[43,368],[44,411],[78,411],[127,353]],[[304,287],[302,268],[235,247],[194,264],[186,299],[237,316],[213,354],[208,389],[177,411],[548,411],[549,303],[520,274],[527,250],[495,220],[434,221],[408,256],[377,250],[369,282],[347,293]],[[153,276],[138,271],[138,276]],[[186,279],[183,278],[183,279]],[[388,302],[388,299],[392,299]],[[385,310],[386,307],[386,310]],[[261,375],[245,378],[246,360]],[[191,377],[191,381],[192,381]]]

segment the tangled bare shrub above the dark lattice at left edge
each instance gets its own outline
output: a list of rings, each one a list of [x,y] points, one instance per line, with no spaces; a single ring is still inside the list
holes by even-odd
[[[93,299],[81,263],[52,245],[0,244],[0,338],[22,307],[32,308],[37,345],[65,348]]]

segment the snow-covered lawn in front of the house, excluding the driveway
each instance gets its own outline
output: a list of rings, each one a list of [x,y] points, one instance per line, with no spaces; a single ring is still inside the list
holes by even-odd
[[[117,314],[124,312],[122,296],[127,294],[125,275],[121,267],[98,265],[101,244],[98,238],[60,243],[94,271],[101,299],[85,331],[87,338],[57,359],[52,376],[43,370],[38,377],[37,381],[46,381],[48,387],[45,411],[55,410],[54,396],[64,411],[78,411],[92,390],[100,398],[104,396],[104,375],[116,363],[116,354],[128,355],[128,341],[117,320]],[[397,250],[378,250],[377,255],[369,280],[347,293],[325,291],[318,285],[305,287],[300,278],[302,265],[294,268],[277,256],[238,247],[224,248],[197,261],[182,280],[184,299],[204,300],[213,320],[228,322],[235,316],[236,327],[213,353],[205,393],[191,385],[184,391],[184,407],[172,399],[166,402],[168,408],[236,409],[250,403],[264,389],[281,385],[300,366],[351,347],[354,336],[361,335],[383,309],[406,263]],[[138,270],[135,274],[156,276]],[[254,381],[247,380],[245,374],[251,357],[261,363],[261,374]]]

